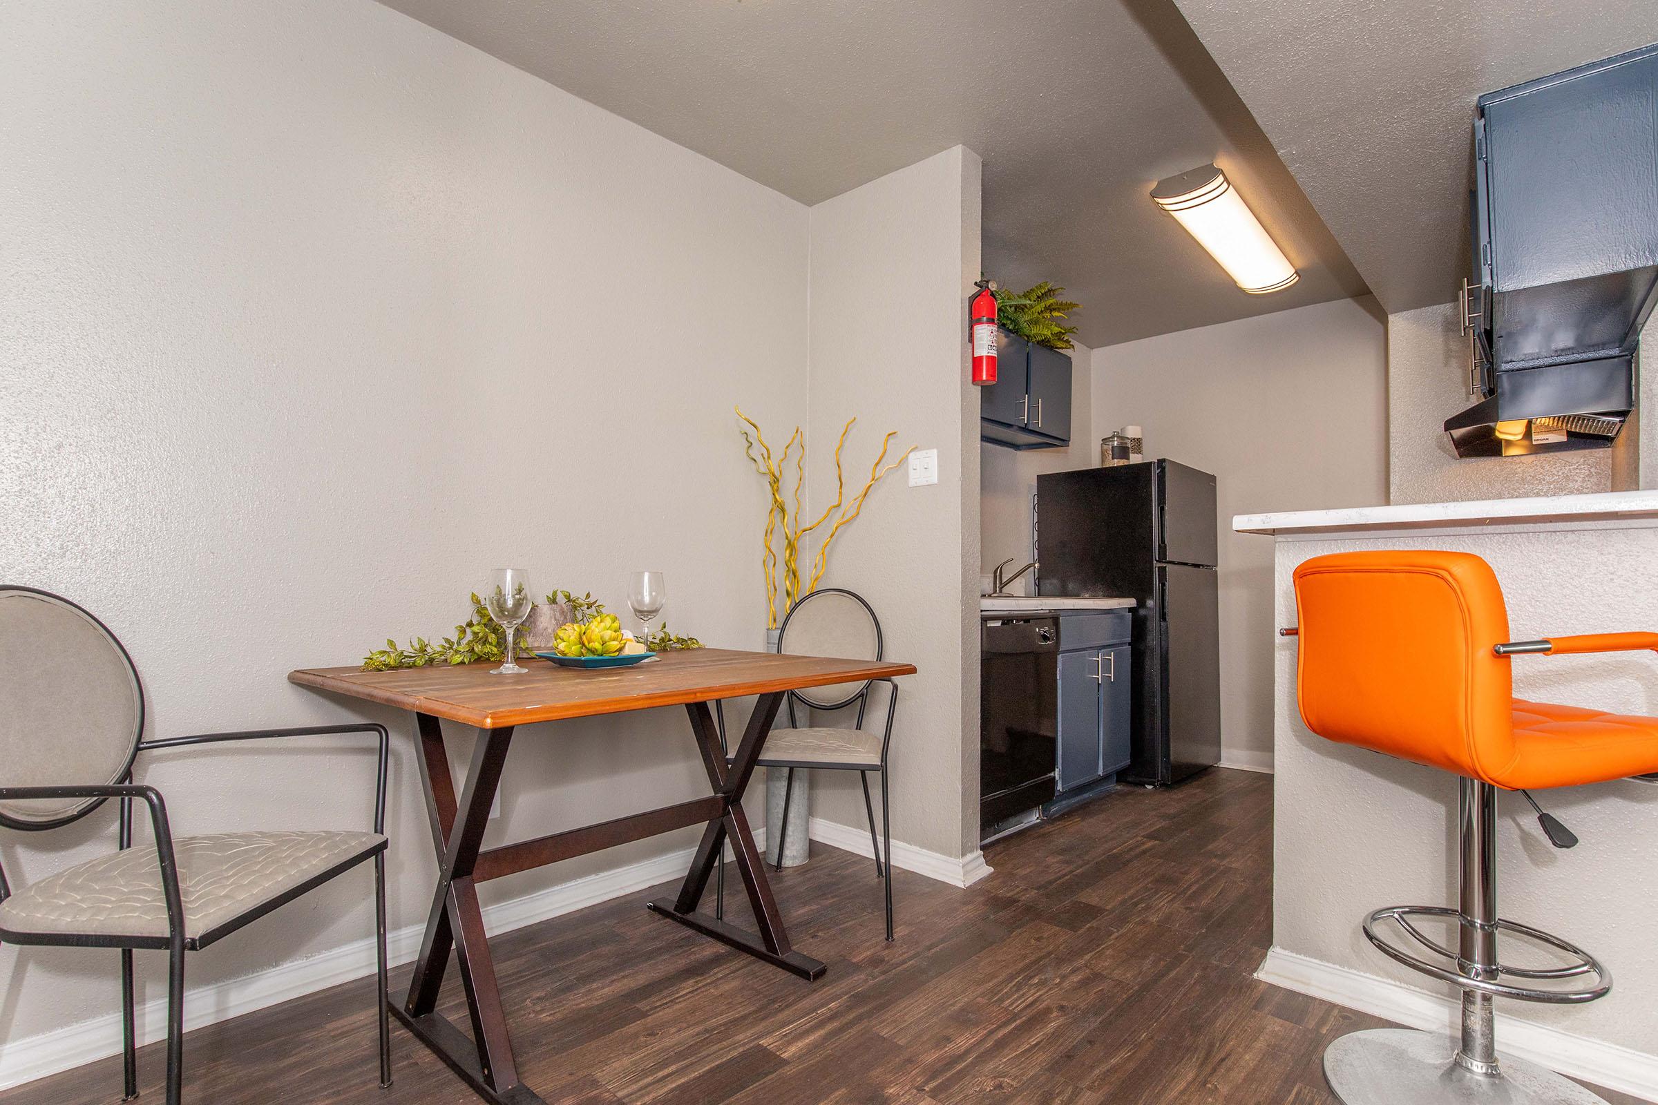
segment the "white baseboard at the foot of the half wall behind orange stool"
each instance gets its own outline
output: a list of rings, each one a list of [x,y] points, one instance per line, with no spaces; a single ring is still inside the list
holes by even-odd
[[[1428,1032],[1451,1034],[1459,1007],[1413,986],[1338,967],[1282,948],[1267,953],[1255,977],[1321,1001]],[[1497,1049],[1608,1090],[1658,1102],[1658,1055],[1504,1016],[1499,1004]]]

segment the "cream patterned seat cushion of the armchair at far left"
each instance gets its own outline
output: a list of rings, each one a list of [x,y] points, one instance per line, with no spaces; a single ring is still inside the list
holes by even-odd
[[[380,833],[252,832],[177,837],[184,936],[257,910],[323,871],[373,855]],[[101,938],[167,936],[156,850],[139,845],[78,863],[0,901],[0,933]]]

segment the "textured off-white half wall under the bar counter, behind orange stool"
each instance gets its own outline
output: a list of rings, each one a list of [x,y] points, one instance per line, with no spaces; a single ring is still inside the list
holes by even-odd
[[[1265,537],[1252,537],[1262,545]],[[1277,543],[1278,625],[1295,625],[1295,565],[1356,548],[1446,548],[1491,562],[1515,639],[1651,630],[1658,625],[1655,528],[1491,532]],[[1273,780],[1273,944],[1292,953],[1451,996],[1378,953],[1360,931],[1388,905],[1456,905],[1456,779],[1446,772],[1333,744],[1295,706],[1295,641],[1277,653]],[[1625,714],[1658,714],[1651,654],[1532,656],[1514,661],[1519,697]],[[1497,901],[1502,916],[1580,944],[1612,967],[1617,986],[1578,1007],[1497,1002],[1499,1016],[1645,1052],[1658,1052],[1658,787],[1608,782],[1540,792],[1544,808],[1580,838],[1570,852],[1544,840],[1525,800],[1497,799]],[[1527,963],[1517,951],[1504,956]],[[1529,959],[1537,961],[1535,954]],[[1500,1040],[1500,1029],[1499,1029]]]

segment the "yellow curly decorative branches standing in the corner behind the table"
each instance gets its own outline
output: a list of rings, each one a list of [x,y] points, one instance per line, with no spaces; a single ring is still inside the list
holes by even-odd
[[[801,525],[801,487],[806,484],[806,436],[801,434],[801,427],[796,426],[794,432],[789,436],[788,444],[783,446],[783,454],[773,459],[771,446],[766,444],[766,436],[761,434],[759,424],[749,416],[743,414],[743,408],[736,408],[736,416],[743,419],[754,436],[749,437],[748,431],[738,431],[743,434],[743,454],[754,464],[754,470],[766,477],[766,485],[771,489],[771,504],[766,507],[766,533],[761,540],[764,552],[761,553],[759,563],[766,577],[766,628],[778,628],[778,552],[771,547],[771,538],[783,527],[783,613],[788,615],[789,608],[794,606],[801,598],[811,595],[817,590],[817,581],[824,578],[824,570],[829,567],[829,542],[834,535],[841,532],[841,527],[856,519],[864,510],[864,499],[869,497],[870,489],[880,482],[892,469],[904,464],[904,459],[915,451],[915,446],[905,449],[897,461],[887,467],[880,467],[880,462],[887,459],[887,447],[892,439],[897,437],[899,431],[890,431],[880,439],[880,452],[875,456],[875,462],[869,466],[869,482],[864,484],[864,490],[857,492],[851,504],[846,502],[846,475],[841,470],[841,449],[846,447],[846,436],[852,431],[852,422],[856,417],[849,417],[846,426],[841,427],[841,441],[834,447],[834,479],[836,479],[836,495],[834,502],[817,515],[817,520],[809,525]],[[789,464],[789,452],[794,451],[794,444],[799,442],[801,451],[794,454],[794,509],[789,510],[789,504],[783,499],[783,480],[784,470]],[[759,452],[756,454],[756,447]],[[801,588],[801,538],[816,530],[819,525],[834,519],[834,525],[829,527],[829,533],[817,545],[817,557],[812,560],[812,573],[806,588]],[[667,628],[667,623],[663,625]]]

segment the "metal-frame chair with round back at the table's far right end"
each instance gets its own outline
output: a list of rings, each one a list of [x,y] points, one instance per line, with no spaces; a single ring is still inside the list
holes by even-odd
[[[880,618],[875,616],[875,610],[869,605],[869,601],[862,595],[859,595],[856,591],[849,591],[849,590],[846,590],[842,586],[821,586],[816,591],[811,591],[804,598],[797,600],[794,603],[794,606],[789,608],[789,613],[783,618],[783,625],[778,628],[778,651],[779,653],[788,653],[789,625],[796,620],[796,616],[801,613],[801,610],[806,610],[814,600],[821,601],[822,598],[826,598],[829,595],[839,595],[839,596],[846,596],[846,598],[856,600],[857,605],[864,608],[864,613],[869,615],[869,621],[870,621],[870,625],[875,630],[875,654],[870,656],[870,658],[857,658],[857,659],[880,659],[882,658],[882,649],[885,648],[885,638],[884,638],[884,635],[880,631]],[[817,711],[841,711],[841,709],[846,709],[846,707],[849,707],[849,706],[852,706],[856,702],[857,704],[857,721],[856,721],[854,729],[862,732],[864,731],[864,714],[865,714],[865,711],[869,707],[870,688],[874,684],[877,684],[877,683],[887,684],[889,697],[887,697],[887,726],[885,726],[885,732],[882,734],[882,739],[880,739],[880,755],[879,755],[879,759],[875,762],[869,762],[867,759],[861,759],[861,757],[856,757],[856,755],[854,757],[847,757],[844,760],[821,759],[821,757],[826,757],[826,755],[832,757],[832,749],[831,750],[811,750],[804,757],[802,755],[789,755],[786,750],[779,752],[779,754],[771,754],[769,752],[769,749],[774,744],[784,746],[784,749],[788,749],[789,744],[797,744],[799,739],[793,739],[791,741],[791,737],[789,737],[791,731],[793,732],[827,734],[827,736],[832,736],[836,732],[846,732],[846,731],[839,731],[839,729],[811,729],[811,727],[809,729],[801,729],[799,727],[799,719],[794,714],[794,704],[796,702],[799,702],[801,706],[806,706],[809,709],[817,709]],[[784,784],[784,792],[783,792],[783,795],[784,795],[783,797],[783,823],[778,825],[778,861],[776,861],[776,870],[779,870],[779,871],[783,870],[783,845],[786,843],[786,835],[788,835],[789,800],[794,797],[794,769],[796,767],[809,767],[809,769],[814,769],[814,770],[856,770],[857,777],[859,777],[859,782],[864,785],[864,813],[869,817],[869,847],[870,847],[870,852],[875,853],[875,878],[884,878],[885,883],[887,883],[887,886],[885,886],[885,895],[887,895],[887,939],[892,939],[892,878],[890,878],[890,871],[887,870],[892,865],[892,815],[890,815],[890,807],[887,803],[887,797],[889,797],[889,789],[887,789],[887,752],[892,747],[892,721],[894,721],[894,717],[899,712],[899,684],[894,683],[892,679],[869,679],[869,681],[862,683],[856,691],[852,691],[851,694],[847,694],[846,697],[841,697],[841,699],[832,697],[832,692],[836,692],[839,689],[841,688],[814,688],[814,689],[809,689],[809,691],[789,691],[789,699],[788,699],[789,701],[789,729],[773,729],[771,736],[766,739],[766,749],[761,749],[759,759],[756,760],[756,764],[759,767],[766,767],[766,769],[781,767],[781,769],[788,770],[788,780]],[[816,697],[816,696],[821,696],[821,697]],[[721,739],[721,742],[725,742],[725,714],[723,712],[720,716],[720,739]],[[874,807],[874,803],[870,800],[870,795],[869,795],[869,772],[877,772],[880,775],[880,838],[875,837],[875,807]],[[882,863],[882,855],[887,856],[885,863]],[[720,881],[720,895],[721,895],[721,898],[720,898],[720,913],[723,914],[723,906],[725,906],[725,901],[723,901],[723,891],[725,891],[725,881],[723,881],[725,880],[725,870],[723,870],[723,865],[721,865],[720,878],[721,878],[721,881]]]

